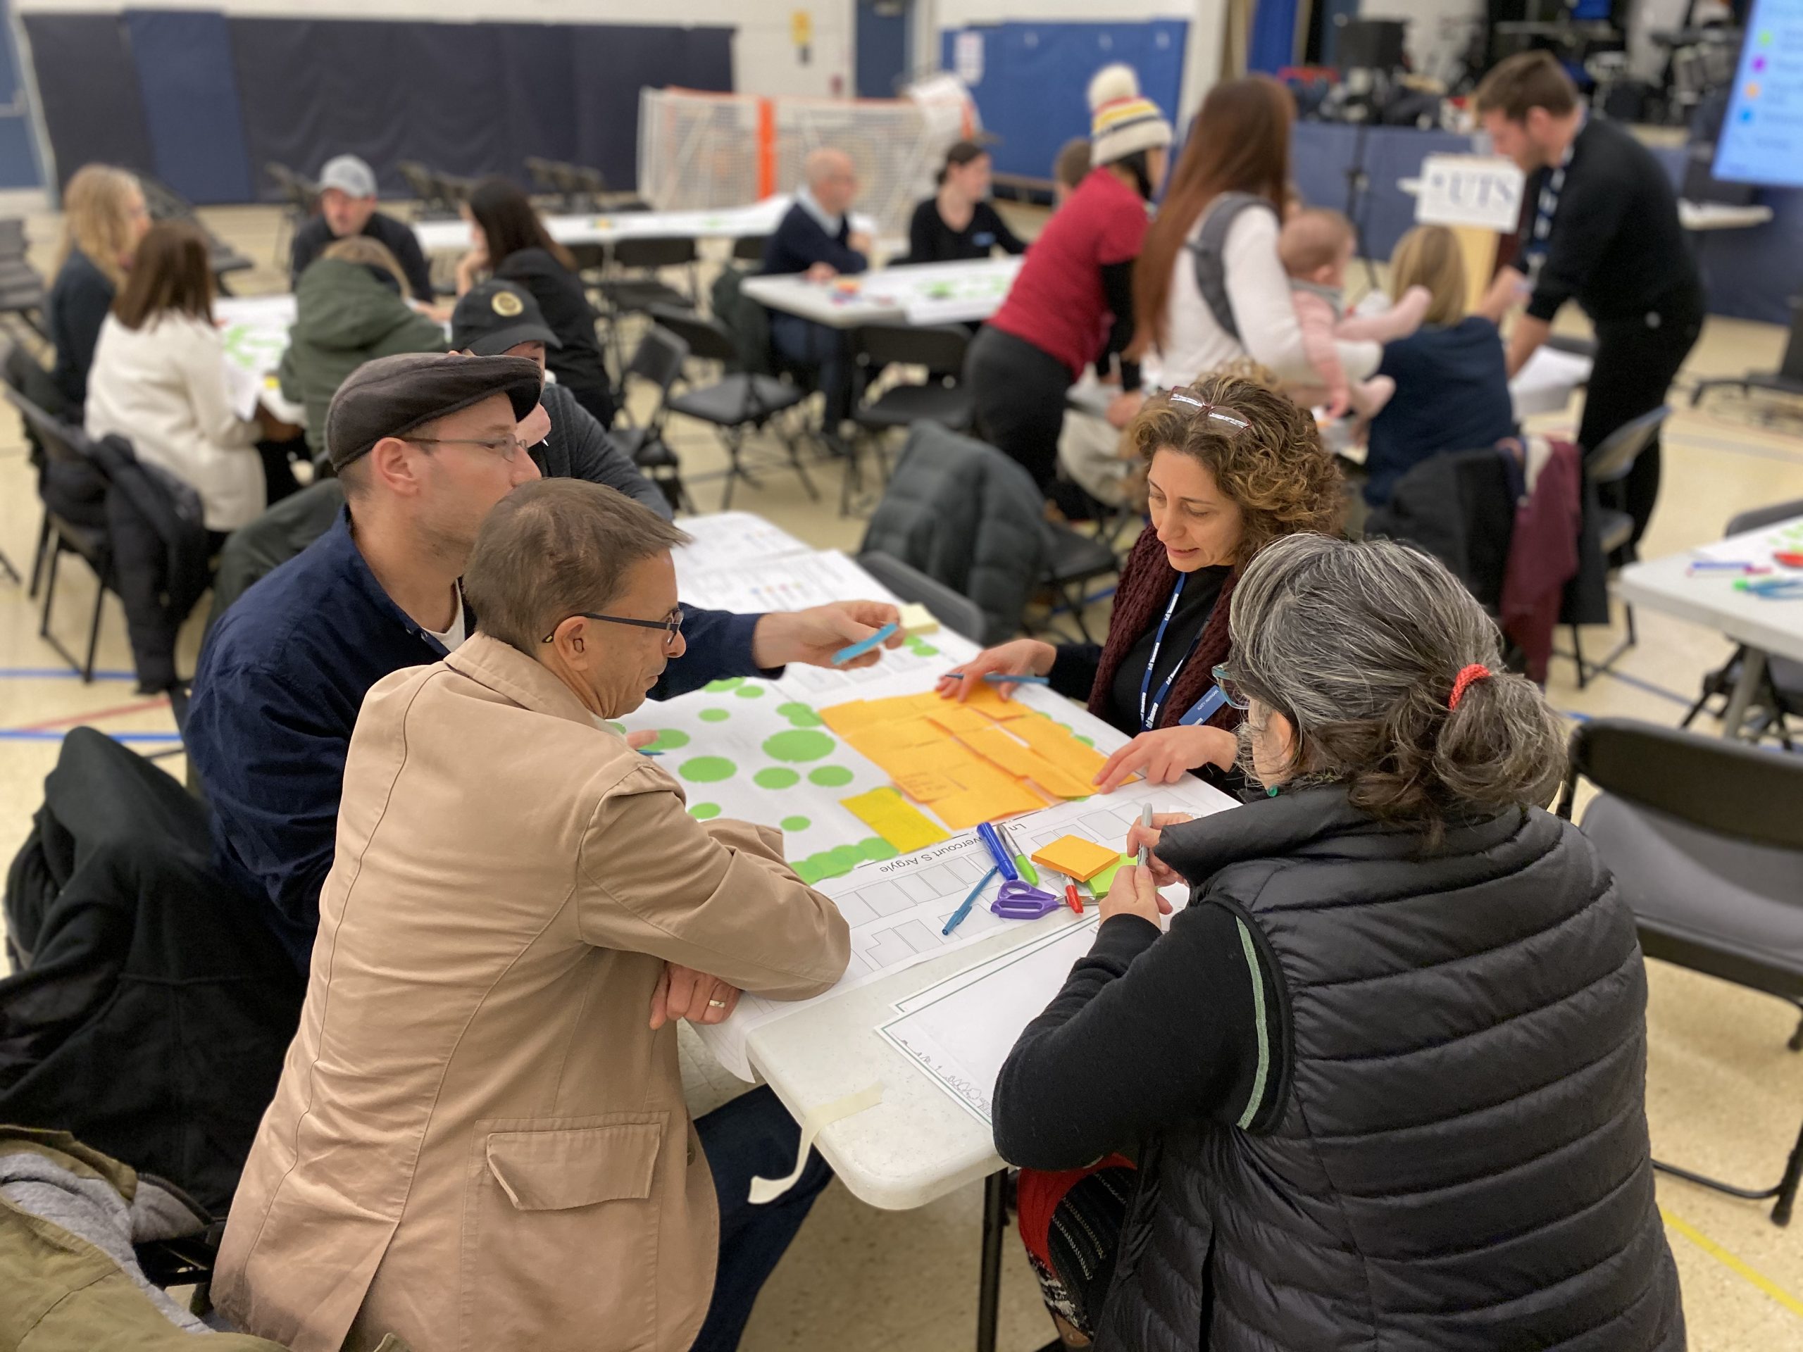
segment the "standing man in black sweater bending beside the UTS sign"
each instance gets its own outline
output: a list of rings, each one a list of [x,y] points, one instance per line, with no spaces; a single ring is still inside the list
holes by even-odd
[[[1549,52],[1491,70],[1477,112],[1496,150],[1529,175],[1522,260],[1498,287],[1529,292],[1509,339],[1509,375],[1534,353],[1565,301],[1596,328],[1596,366],[1578,442],[1594,452],[1612,431],[1666,402],[1702,332],[1702,279],[1684,245],[1677,195],[1659,160],[1625,128],[1588,117]],[[1641,452],[1614,503],[1634,517],[1632,546],[1659,498],[1659,442]]]

